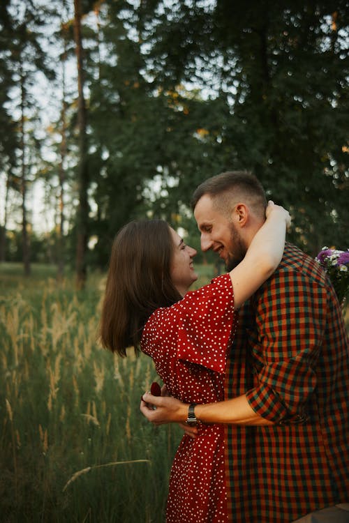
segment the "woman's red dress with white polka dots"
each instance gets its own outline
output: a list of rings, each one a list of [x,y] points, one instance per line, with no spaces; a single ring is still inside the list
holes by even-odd
[[[232,282],[218,276],[151,314],[142,351],[170,395],[186,403],[222,401],[235,328]],[[184,435],[172,464],[166,522],[228,522],[224,469],[223,425],[200,425],[195,439]]]

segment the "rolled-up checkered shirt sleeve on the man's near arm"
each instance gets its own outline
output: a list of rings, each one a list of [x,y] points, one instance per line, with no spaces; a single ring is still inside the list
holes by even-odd
[[[326,288],[297,271],[280,271],[258,293],[257,334],[249,342],[258,386],[246,397],[260,416],[281,424],[306,420],[326,308]]]

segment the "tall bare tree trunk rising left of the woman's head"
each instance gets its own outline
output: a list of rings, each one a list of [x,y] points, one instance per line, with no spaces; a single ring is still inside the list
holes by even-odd
[[[87,165],[87,109],[84,100],[84,68],[83,47],[81,36],[81,2],[74,0],[74,38],[77,58],[78,84],[78,127],[80,160],[77,173],[79,205],[77,209],[77,247],[76,247],[76,285],[82,289],[87,278],[87,228],[89,218],[89,203],[87,189],[89,186],[89,172]]]

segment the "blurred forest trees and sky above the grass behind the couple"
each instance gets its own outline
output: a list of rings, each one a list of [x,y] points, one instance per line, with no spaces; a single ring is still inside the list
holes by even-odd
[[[348,20],[346,0],[3,0],[0,260],[83,287],[145,216],[198,248],[191,194],[228,169],[309,254],[348,248]]]

